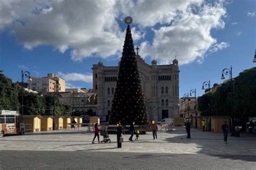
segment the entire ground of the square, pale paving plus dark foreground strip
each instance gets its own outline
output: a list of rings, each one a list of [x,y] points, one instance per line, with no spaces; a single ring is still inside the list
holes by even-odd
[[[125,134],[120,149],[114,134],[107,144],[92,145],[93,136],[80,128],[0,138],[0,169],[256,169],[252,134],[224,144],[221,133],[192,130],[186,139],[178,127],[157,140],[149,132],[130,142]]]

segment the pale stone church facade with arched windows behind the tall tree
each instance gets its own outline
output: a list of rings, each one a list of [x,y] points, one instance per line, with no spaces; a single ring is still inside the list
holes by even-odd
[[[178,117],[178,60],[174,59],[170,65],[157,65],[157,61],[152,60],[149,65],[137,52],[137,61],[150,120],[158,121],[164,118]],[[96,115],[103,121],[109,119],[116,89],[118,67],[104,66],[101,61],[92,66],[93,92],[97,93],[98,101]]]

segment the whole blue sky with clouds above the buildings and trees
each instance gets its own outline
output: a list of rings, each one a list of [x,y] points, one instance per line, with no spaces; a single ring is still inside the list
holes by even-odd
[[[117,66],[126,25],[151,64],[179,60],[179,96],[255,66],[256,1],[0,1],[0,70],[21,81],[56,73],[66,87],[92,88],[92,65]],[[226,77],[228,78],[228,77]]]

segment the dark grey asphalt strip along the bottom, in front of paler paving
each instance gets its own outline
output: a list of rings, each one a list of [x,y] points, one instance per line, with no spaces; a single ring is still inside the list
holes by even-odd
[[[0,169],[255,169],[250,155],[1,151]]]

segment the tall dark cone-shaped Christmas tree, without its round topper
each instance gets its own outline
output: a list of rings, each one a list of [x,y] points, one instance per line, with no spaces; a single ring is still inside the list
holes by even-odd
[[[130,25],[126,29],[109,124],[118,121],[123,125],[130,125],[132,121],[136,125],[149,123]]]

